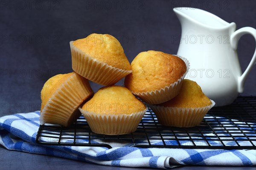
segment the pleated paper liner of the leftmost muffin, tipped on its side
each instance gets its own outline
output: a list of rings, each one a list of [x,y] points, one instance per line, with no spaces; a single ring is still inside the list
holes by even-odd
[[[47,101],[40,114],[40,124],[69,126],[81,115],[78,107],[92,94],[89,81],[73,73]]]

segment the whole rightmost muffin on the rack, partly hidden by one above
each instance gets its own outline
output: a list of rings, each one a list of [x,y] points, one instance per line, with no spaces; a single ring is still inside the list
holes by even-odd
[[[215,105],[195,81],[183,80],[180,93],[170,101],[150,105],[160,124],[174,127],[194,127]]]

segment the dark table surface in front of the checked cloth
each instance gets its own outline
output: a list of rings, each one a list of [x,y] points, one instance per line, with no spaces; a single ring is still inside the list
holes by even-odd
[[[255,170],[255,167],[181,166],[175,170]],[[152,168],[110,167],[65,158],[6,150],[0,147],[0,170],[152,170]]]

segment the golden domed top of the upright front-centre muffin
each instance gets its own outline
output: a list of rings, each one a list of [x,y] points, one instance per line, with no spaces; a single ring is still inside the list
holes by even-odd
[[[146,106],[130,90],[114,85],[100,88],[82,109],[87,112],[118,115],[140,112]]]

